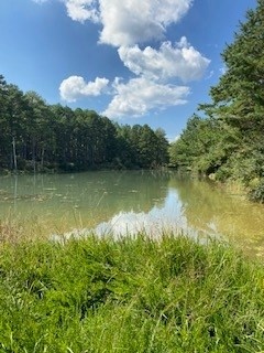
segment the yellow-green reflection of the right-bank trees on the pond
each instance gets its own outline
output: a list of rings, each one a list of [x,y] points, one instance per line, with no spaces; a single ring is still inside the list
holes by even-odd
[[[264,256],[264,206],[213,182],[172,178],[189,225],[223,234],[245,252]]]

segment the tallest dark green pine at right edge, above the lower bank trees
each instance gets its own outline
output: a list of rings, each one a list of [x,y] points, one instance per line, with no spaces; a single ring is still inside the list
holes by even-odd
[[[246,22],[240,24],[222,58],[226,73],[210,90],[212,104],[201,108],[246,131],[251,139],[264,127],[264,0],[248,11]]]

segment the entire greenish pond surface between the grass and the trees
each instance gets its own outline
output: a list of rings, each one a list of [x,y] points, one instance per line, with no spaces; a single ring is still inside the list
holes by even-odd
[[[264,256],[263,205],[170,171],[0,176],[0,220],[13,217],[53,234],[209,234]]]

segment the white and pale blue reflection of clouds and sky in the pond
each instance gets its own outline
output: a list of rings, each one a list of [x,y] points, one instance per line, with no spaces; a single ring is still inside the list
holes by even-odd
[[[175,189],[168,189],[167,195],[163,204],[155,205],[148,212],[119,212],[107,222],[99,223],[94,228],[74,229],[64,233],[63,236],[53,235],[55,240],[67,240],[72,237],[79,238],[96,234],[98,236],[136,236],[139,233],[144,233],[152,238],[158,238],[163,234],[185,234],[193,238],[213,236],[220,234],[212,224],[207,227],[193,227],[185,215],[185,208],[179,199],[178,192]]]

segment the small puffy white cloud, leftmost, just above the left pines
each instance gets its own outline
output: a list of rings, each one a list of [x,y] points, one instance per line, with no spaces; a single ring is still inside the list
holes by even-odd
[[[66,101],[76,101],[77,98],[84,96],[99,96],[108,83],[107,78],[97,77],[95,82],[86,83],[80,76],[70,76],[59,86],[61,97]]]

